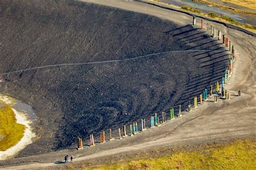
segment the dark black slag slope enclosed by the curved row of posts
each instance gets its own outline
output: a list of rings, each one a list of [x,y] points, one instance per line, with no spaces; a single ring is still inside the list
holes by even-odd
[[[185,106],[220,80],[228,63],[217,40],[191,25],[94,4],[0,1],[0,24],[0,73],[159,53],[2,75],[1,92],[33,106],[43,129],[19,156]],[[196,49],[210,51],[160,53]]]

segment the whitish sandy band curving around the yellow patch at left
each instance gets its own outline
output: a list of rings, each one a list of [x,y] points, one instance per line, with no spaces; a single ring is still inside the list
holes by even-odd
[[[0,94],[0,100],[4,101],[6,104],[9,104],[11,106],[13,106],[16,103],[14,99],[3,96],[1,94]],[[26,128],[23,134],[23,138],[18,142],[18,144],[7,149],[6,151],[0,151],[0,160],[4,160],[9,157],[12,157],[18,152],[22,151],[22,149],[24,149],[26,146],[32,143],[32,138],[36,137],[36,134],[32,132],[32,128],[30,126],[31,121],[28,119],[26,114],[22,112],[18,112],[14,108],[12,108],[12,111],[14,111],[15,113],[17,123],[26,126]]]

